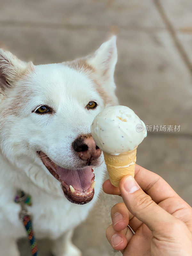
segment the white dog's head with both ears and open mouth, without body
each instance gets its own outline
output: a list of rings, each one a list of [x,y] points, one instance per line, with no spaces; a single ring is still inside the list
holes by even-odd
[[[73,203],[94,195],[93,169],[103,155],[90,125],[117,103],[116,59],[115,37],[86,58],[60,64],[34,66],[0,51],[1,151],[12,163],[35,159]]]

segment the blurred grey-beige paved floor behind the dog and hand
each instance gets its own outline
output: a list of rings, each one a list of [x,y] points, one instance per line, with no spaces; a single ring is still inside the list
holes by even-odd
[[[192,1],[191,0],[1,0],[0,44],[34,64],[62,62],[95,51],[117,34],[115,80],[122,105],[147,125],[137,163],[161,175],[192,205]],[[180,125],[158,132],[154,125]],[[154,131],[153,131],[154,130]],[[121,255],[105,230],[118,196],[101,192],[74,234],[83,256]],[[39,241],[41,256],[50,242]],[[21,256],[28,242],[19,241]]]

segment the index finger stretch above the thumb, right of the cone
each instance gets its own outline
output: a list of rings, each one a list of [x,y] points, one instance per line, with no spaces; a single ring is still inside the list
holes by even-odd
[[[146,191],[157,204],[169,197],[177,196],[179,198],[177,193],[163,178],[137,164],[135,165],[134,178],[140,187]]]

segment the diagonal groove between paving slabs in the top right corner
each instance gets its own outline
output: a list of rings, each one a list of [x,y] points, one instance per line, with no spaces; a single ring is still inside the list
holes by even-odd
[[[190,73],[192,74],[192,63],[188,57],[188,54],[186,53],[185,49],[183,48],[183,45],[180,43],[180,40],[177,37],[176,31],[175,31],[174,27],[172,26],[172,23],[167,18],[165,10],[164,10],[162,4],[160,3],[160,0],[153,0],[153,2],[155,4],[157,11],[159,12],[162,20],[165,23],[165,26],[167,27],[167,30],[169,31],[169,33],[175,43],[175,46],[176,46],[178,52],[180,53],[181,58],[183,59],[187,68],[189,69]]]

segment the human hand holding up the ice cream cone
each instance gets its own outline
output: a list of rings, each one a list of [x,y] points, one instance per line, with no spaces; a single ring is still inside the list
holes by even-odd
[[[125,176],[119,188],[106,180],[103,191],[124,200],[112,207],[106,232],[115,250],[124,256],[192,255],[192,208],[163,178],[136,164],[135,179]]]

